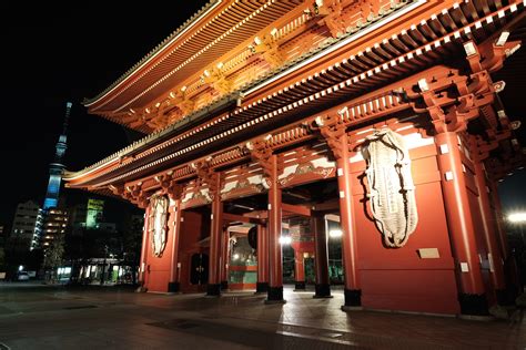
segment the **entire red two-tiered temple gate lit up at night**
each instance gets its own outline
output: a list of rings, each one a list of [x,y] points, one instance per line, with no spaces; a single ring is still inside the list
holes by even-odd
[[[497,183],[524,164],[493,78],[523,14],[516,0],[211,1],[85,101],[148,135],[64,178],[145,209],[149,291],[252,285],[284,302],[290,243],[296,288],[314,257],[330,297],[332,222],[343,310],[486,316],[508,288]]]

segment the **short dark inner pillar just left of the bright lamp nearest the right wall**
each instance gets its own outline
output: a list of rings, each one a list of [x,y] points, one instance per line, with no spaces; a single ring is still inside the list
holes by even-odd
[[[314,246],[316,249],[315,268],[316,285],[314,298],[332,298],[328,280],[328,246],[325,219],[321,216],[311,217],[311,227],[314,231]]]

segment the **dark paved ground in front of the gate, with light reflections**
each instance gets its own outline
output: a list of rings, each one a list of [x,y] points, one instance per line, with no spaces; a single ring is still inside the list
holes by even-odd
[[[526,349],[526,320],[345,313],[341,291],[285,299],[0,284],[0,349]]]

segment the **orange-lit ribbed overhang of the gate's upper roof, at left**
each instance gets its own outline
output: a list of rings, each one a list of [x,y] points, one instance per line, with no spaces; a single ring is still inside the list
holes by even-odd
[[[119,113],[144,106],[162,93],[178,85],[237,47],[240,42],[262,30],[275,17],[292,10],[299,0],[286,1],[232,1],[211,2],[194,18],[214,13],[192,31],[180,35],[186,27],[158,45],[146,58],[130,70],[107,92],[85,105],[90,113],[100,114],[114,122]],[[216,10],[215,12],[210,12]],[[193,20],[190,23],[196,23]]]

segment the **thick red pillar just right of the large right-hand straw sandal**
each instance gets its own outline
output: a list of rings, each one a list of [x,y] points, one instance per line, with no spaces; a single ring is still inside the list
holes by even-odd
[[[438,147],[438,166],[442,173],[449,239],[456,259],[461,312],[485,316],[488,315],[488,306],[457,133],[439,133],[435,136],[435,143]]]

